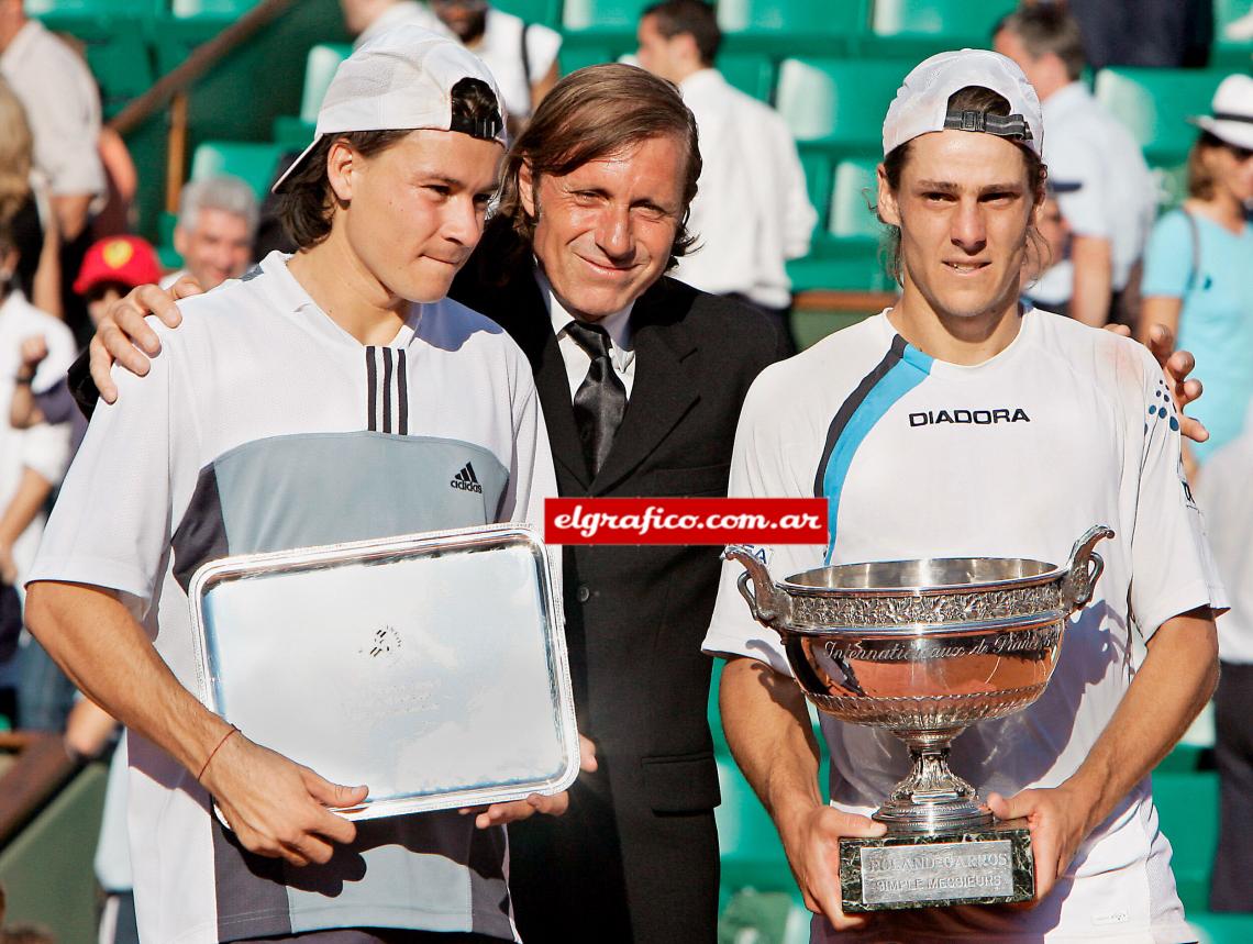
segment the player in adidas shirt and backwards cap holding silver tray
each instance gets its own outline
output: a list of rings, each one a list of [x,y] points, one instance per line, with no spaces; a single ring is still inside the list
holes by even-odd
[[[28,623],[128,729],[144,940],[517,939],[502,824],[565,795],[342,819],[327,808],[367,785],[252,742],[189,691],[187,590],[226,555],[540,520],[556,487],[530,368],[446,298],[504,128],[460,44],[402,26],[362,45],[277,184],[298,250],[184,300],[147,378],[119,372],[125,394],[91,418]],[[467,462],[480,492],[450,487]]]

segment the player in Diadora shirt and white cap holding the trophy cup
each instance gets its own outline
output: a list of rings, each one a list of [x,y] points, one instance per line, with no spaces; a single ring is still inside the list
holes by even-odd
[[[1030,826],[1029,909],[843,913],[838,839],[885,831],[870,814],[906,775],[907,752],[885,730],[823,715],[822,803],[779,637],[741,598],[743,567],[724,563],[704,649],[728,660],[727,740],[816,913],[813,941],[1195,939],[1149,771],[1214,689],[1225,603],[1158,363],[1129,338],[1020,305],[1048,134],[1005,56],[944,53],[913,69],[878,167],[901,299],[766,368],[741,414],[730,495],[822,497],[829,510],[826,545],[756,548],[777,578],[866,561],[1065,561],[1091,526],[1116,535],[1040,700],[952,746],[954,770],[991,813]]]

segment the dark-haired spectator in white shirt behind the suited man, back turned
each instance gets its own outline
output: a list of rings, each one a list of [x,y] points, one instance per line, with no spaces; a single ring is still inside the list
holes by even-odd
[[[809,250],[818,218],[791,131],[769,105],[714,69],[722,31],[708,4],[653,4],[638,38],[640,65],[679,86],[700,133],[703,168],[688,218],[699,242],[679,260],[675,278],[759,308],[791,338],[784,263]]]

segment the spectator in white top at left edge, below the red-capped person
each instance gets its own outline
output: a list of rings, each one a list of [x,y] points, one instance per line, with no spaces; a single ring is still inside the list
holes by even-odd
[[[8,422],[9,404],[19,387],[45,391],[65,376],[74,359],[74,338],[64,322],[40,312],[13,287],[16,268],[11,230],[0,225],[0,583],[21,587],[43,532],[44,506],[69,464],[69,427],[14,429]],[[21,367],[21,343],[33,334],[41,334],[50,351],[38,371]],[[19,662],[25,661],[26,650],[24,645],[15,659],[0,664],[0,690],[8,690],[0,711],[10,717],[15,714]],[[25,666],[21,671],[25,674]],[[59,727],[53,719],[58,712],[64,719],[69,705],[28,699],[25,679],[20,689],[23,704],[16,714],[21,726]]]

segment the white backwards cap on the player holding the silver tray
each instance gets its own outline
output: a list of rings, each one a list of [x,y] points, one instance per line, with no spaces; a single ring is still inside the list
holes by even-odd
[[[462,79],[479,79],[491,89],[499,120],[452,116],[452,89]],[[396,26],[340,63],[317,113],[313,143],[278,178],[273,193],[328,134],[429,128],[507,146],[504,101],[487,66],[459,41],[412,24]]]

